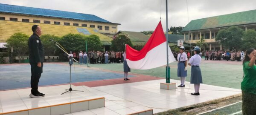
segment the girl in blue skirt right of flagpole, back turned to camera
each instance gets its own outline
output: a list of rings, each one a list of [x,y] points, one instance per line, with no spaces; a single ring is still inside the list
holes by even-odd
[[[189,60],[189,66],[191,66],[190,83],[194,84],[195,92],[191,93],[191,95],[200,95],[200,83],[203,83],[201,69],[199,67],[202,59],[199,55],[201,51],[198,46],[195,46],[194,50],[192,51],[194,51],[195,55],[193,55]]]

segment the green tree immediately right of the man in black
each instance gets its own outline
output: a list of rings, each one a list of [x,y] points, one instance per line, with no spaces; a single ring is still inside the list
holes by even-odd
[[[58,48],[54,42],[50,41],[50,39],[58,42],[60,38],[55,35],[47,34],[47,35],[41,35],[40,39],[44,46],[44,55],[46,56],[56,55],[56,51],[58,50]]]

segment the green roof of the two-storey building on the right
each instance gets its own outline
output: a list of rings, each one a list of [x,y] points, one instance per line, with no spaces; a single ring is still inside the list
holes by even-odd
[[[256,23],[256,10],[192,20],[181,32]]]

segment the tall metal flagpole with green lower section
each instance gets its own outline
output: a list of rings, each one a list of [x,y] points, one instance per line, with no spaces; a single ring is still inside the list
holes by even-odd
[[[167,60],[167,66],[166,66],[166,83],[170,83],[170,67],[169,67],[169,58],[168,58],[168,7],[167,7],[167,0],[166,0],[166,60]]]

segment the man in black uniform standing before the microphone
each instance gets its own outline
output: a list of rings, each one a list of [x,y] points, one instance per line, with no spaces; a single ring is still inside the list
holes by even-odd
[[[31,94],[30,98],[43,97],[44,94],[38,92],[38,82],[43,72],[44,48],[40,37],[42,35],[41,27],[32,26],[33,35],[29,37],[29,63],[31,65]]]

